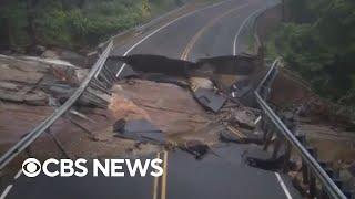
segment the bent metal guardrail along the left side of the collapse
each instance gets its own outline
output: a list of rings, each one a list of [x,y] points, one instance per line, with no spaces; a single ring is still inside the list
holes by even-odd
[[[40,125],[29,132],[24,137],[20,139],[14,146],[12,146],[4,155],[0,158],[0,170],[3,169],[16,156],[18,156],[21,151],[23,151],[29,145],[31,145],[40,135],[42,135],[45,130],[52,126],[58,118],[60,118],[65,112],[70,109],[70,107],[80,98],[80,96],[88,88],[89,83],[92,78],[99,74],[111,52],[113,46],[112,41],[109,42],[103,53],[100,55],[97,63],[91,69],[88,76],[82,81],[77,91],[72,94],[68,101],[54,111],[52,115],[47,117]]]

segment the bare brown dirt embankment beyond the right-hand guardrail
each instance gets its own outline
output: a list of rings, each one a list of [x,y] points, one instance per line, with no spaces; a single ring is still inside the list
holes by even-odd
[[[257,34],[262,43],[281,22],[281,6],[265,11],[257,19]],[[344,168],[355,163],[355,132],[351,128],[349,118],[335,114],[334,106],[314,94],[294,72],[281,69],[270,101],[286,112],[301,107],[298,132],[306,134],[311,145],[318,149],[321,159],[337,163]]]

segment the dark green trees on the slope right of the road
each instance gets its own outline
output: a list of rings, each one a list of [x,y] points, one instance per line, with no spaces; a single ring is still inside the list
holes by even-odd
[[[266,45],[313,90],[355,107],[355,1],[285,0],[285,22]]]

